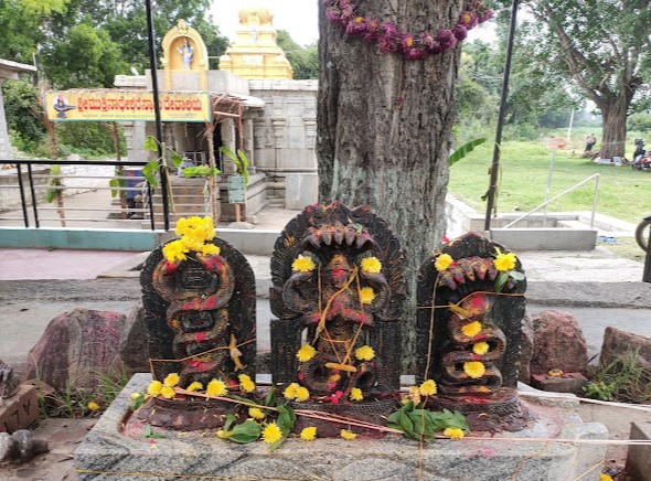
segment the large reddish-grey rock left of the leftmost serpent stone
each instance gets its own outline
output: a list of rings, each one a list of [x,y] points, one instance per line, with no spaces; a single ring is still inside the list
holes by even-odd
[[[126,328],[126,317],[118,312],[75,309],[56,317],[28,355],[28,378],[55,389],[96,387],[98,373],[121,368]]]

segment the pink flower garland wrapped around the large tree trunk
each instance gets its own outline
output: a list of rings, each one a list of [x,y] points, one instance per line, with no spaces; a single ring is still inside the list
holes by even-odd
[[[381,22],[355,15],[353,0],[323,2],[329,4],[326,9],[328,20],[343,26],[346,34],[361,36],[370,43],[377,42],[381,52],[399,52],[409,60],[423,60],[430,54],[452,49],[468,36],[470,29],[493,17],[493,12],[483,6],[482,0],[470,0],[452,29],[441,30],[436,35],[431,32],[413,35],[401,32],[394,22]]]

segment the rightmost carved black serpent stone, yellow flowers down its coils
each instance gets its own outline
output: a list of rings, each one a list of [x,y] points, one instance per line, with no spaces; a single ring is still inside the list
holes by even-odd
[[[423,264],[417,377],[436,381],[436,408],[461,410],[473,428],[521,428],[516,384],[525,290],[517,257],[477,233],[441,245]]]

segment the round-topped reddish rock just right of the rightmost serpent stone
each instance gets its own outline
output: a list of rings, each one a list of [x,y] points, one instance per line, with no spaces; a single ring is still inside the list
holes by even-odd
[[[576,318],[567,312],[543,311],[532,316],[534,329],[531,373],[547,374],[551,370],[564,373],[588,371],[586,339]]]

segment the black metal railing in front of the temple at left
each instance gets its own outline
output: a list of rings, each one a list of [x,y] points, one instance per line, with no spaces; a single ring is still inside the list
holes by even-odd
[[[8,221],[20,221],[22,220],[22,224],[25,228],[29,228],[33,223],[33,226],[40,228],[42,224],[47,222],[57,222],[62,223],[62,225],[68,225],[77,223],[77,225],[84,224],[84,226],[88,226],[93,223],[104,223],[103,228],[106,227],[107,220],[113,222],[117,222],[120,227],[127,228],[143,228],[142,222],[146,217],[149,217],[149,228],[151,231],[156,231],[156,222],[154,222],[154,213],[153,213],[153,203],[151,202],[152,199],[152,190],[148,182],[145,181],[145,178],[141,175],[117,175],[115,171],[110,174],[106,175],[97,175],[97,174],[65,174],[60,173],[57,175],[53,175],[50,173],[43,172],[34,172],[34,167],[51,167],[58,164],[62,168],[65,165],[74,165],[78,167],[81,170],[84,168],[93,168],[93,167],[132,167],[142,169],[147,163],[146,162],[137,162],[137,161],[117,161],[117,160],[0,160],[0,165],[2,164],[14,164],[15,165],[15,173],[8,172],[7,170],[2,171],[3,175],[2,179],[4,182],[0,183],[0,196],[2,199],[10,199],[11,193],[8,190],[15,190],[18,189],[20,194],[20,207],[11,207],[8,203],[0,204],[0,225],[8,225]],[[25,175],[26,173],[26,175]],[[17,183],[9,183],[13,182],[15,175]],[[26,179],[25,179],[26,177]],[[65,181],[63,184],[52,183],[51,180],[60,179]],[[115,179],[120,182],[118,185],[110,185],[110,181]],[[102,182],[106,180],[106,182]],[[142,188],[136,185],[129,185],[129,182],[142,182]],[[56,205],[56,201],[53,202],[52,206],[46,206],[46,202],[43,201],[44,194],[51,190],[65,190],[68,193],[72,191],[81,191],[81,192],[95,192],[95,191],[107,191],[108,192],[118,192],[116,199],[120,200],[124,197],[129,197],[141,192],[143,195],[142,197],[145,202],[142,202],[141,207],[137,207],[135,202],[127,202],[127,205],[111,205],[111,197],[107,195],[106,199],[100,199],[99,206],[74,206],[70,205],[71,200],[73,200],[75,195],[66,195],[64,196],[63,206]],[[122,193],[126,192],[127,195]],[[127,201],[127,199],[125,199]],[[65,205],[65,204],[68,205]],[[103,205],[106,203],[106,205]],[[31,207],[31,209],[30,209]],[[31,212],[30,212],[31,211]],[[47,216],[47,214],[55,212],[60,216],[52,217]],[[77,216],[70,216],[68,214],[76,213],[79,214]],[[13,214],[13,216],[11,216]],[[114,217],[110,217],[110,216]],[[65,224],[63,224],[65,223]],[[137,224],[137,226],[135,225]]]

